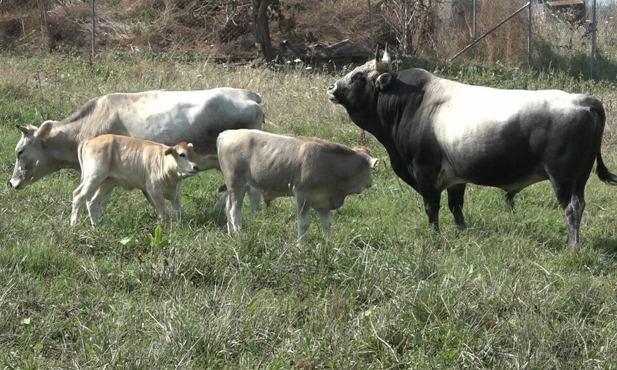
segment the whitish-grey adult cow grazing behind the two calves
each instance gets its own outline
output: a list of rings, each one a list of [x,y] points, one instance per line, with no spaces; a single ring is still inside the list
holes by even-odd
[[[44,121],[40,127],[17,126],[22,138],[15,147],[9,186],[23,189],[62,168],[80,170],[78,143],[102,134],[169,146],[193,142],[199,170],[218,168],[218,134],[234,128],[262,128],[260,102],[255,92],[234,88],[96,97],[63,121]]]

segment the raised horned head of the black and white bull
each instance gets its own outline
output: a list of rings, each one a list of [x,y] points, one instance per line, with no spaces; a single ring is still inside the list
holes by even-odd
[[[381,60],[376,51],[375,60],[356,67],[341,80],[328,86],[326,92],[328,99],[335,104],[341,104],[346,109],[365,110],[375,92],[387,89],[394,79],[386,47]]]

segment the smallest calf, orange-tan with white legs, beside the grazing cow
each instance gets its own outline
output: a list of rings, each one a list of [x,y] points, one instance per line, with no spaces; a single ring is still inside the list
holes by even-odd
[[[180,182],[199,171],[193,144],[185,142],[170,147],[107,134],[82,141],[78,157],[81,183],[73,191],[71,226],[77,224],[85,200],[90,222],[96,226],[116,186],[143,191],[165,223],[169,221],[165,199],[171,200],[180,220]]]

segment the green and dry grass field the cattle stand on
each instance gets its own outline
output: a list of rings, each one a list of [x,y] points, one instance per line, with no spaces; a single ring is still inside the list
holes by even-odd
[[[434,70],[435,67],[431,68]],[[559,72],[462,65],[442,76],[503,88],[590,92],[605,102],[603,156],[617,171],[615,87]],[[335,77],[204,61],[0,55],[0,172],[15,123],[61,119],[91,97],[234,86],[263,98],[265,130],[355,145],[358,129],[325,86]],[[40,81],[40,82],[39,82]],[[116,190],[101,225],[68,227],[75,171],[23,191],[0,187],[0,369],[614,369],[617,187],[592,175],[581,250],[549,183],[507,212],[471,186],[457,232],[442,198],[439,235],[383,147],[373,187],[333,213],[334,244],[312,215],[296,246],[295,208],[245,217],[228,237],[220,173],[183,184],[186,223],[162,234],[141,192]],[[121,239],[130,242],[121,244]]]

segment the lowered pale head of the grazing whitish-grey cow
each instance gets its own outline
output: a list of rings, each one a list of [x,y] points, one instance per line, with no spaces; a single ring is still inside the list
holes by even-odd
[[[15,168],[9,180],[10,187],[23,189],[56,170],[48,163],[49,154],[45,146],[54,123],[57,121],[44,121],[41,127],[17,125],[22,131],[22,138],[15,147]]]

